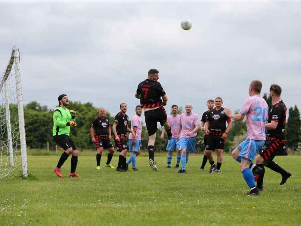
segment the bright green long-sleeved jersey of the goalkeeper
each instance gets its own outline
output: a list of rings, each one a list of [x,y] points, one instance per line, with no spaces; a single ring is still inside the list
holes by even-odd
[[[67,122],[75,121],[75,118],[71,117],[69,109],[63,107],[55,108],[53,112],[53,136],[65,134],[70,136],[70,126],[67,126]]]

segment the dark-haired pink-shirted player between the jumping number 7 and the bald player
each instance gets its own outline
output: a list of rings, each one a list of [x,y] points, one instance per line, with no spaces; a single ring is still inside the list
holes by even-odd
[[[167,168],[171,168],[171,159],[172,153],[176,149],[177,151],[177,164],[174,168],[179,168],[179,164],[181,161],[181,152],[180,152],[180,141],[177,140],[177,134],[180,127],[180,115],[178,114],[178,106],[172,105],[171,106],[171,115],[167,117],[167,121],[171,126],[171,133],[172,137],[171,140],[167,142]],[[161,139],[165,139],[165,129],[162,129]]]

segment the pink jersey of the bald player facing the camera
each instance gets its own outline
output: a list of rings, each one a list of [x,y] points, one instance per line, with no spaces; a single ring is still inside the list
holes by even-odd
[[[190,137],[186,135],[186,133],[191,132],[195,127],[200,125],[199,116],[193,112],[191,112],[189,115],[186,113],[182,113],[180,117],[180,126],[182,126],[182,130],[180,133],[180,138],[190,138],[195,137],[196,132],[191,134]]]

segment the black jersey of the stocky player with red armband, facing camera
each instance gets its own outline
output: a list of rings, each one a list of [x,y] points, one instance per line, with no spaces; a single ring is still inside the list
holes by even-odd
[[[231,119],[225,114],[224,108],[220,108],[219,110],[214,108],[208,112],[207,121],[209,122],[209,130],[211,132],[224,132],[227,129],[226,121],[229,123]]]

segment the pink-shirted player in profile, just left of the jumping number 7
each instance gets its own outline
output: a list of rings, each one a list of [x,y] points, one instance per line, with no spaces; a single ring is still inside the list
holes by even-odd
[[[130,133],[129,136],[129,151],[131,152],[131,157],[127,160],[127,167],[130,165],[130,163],[132,163],[132,171],[140,171],[138,168],[136,168],[136,156],[140,154],[142,132],[142,108],[140,105],[136,106],[135,112],[136,114],[133,116],[131,121],[132,133]]]

